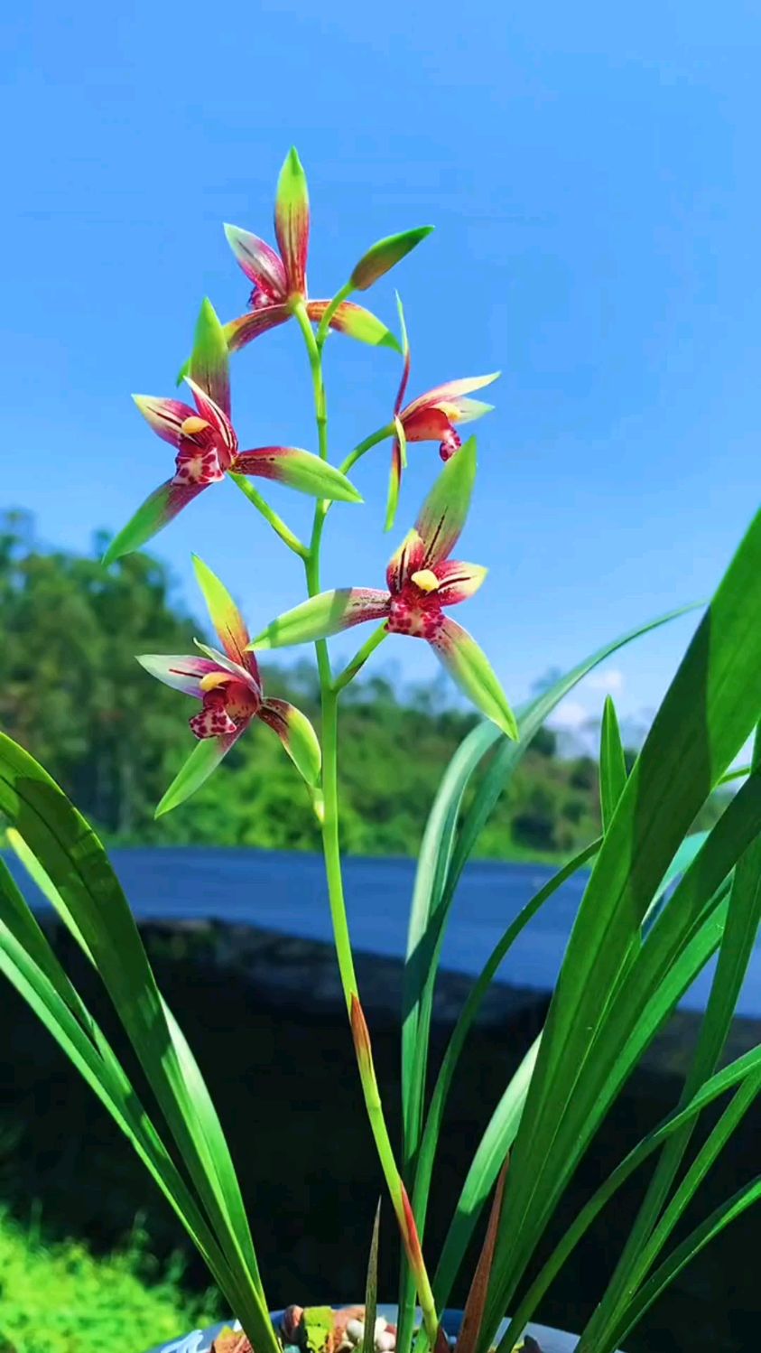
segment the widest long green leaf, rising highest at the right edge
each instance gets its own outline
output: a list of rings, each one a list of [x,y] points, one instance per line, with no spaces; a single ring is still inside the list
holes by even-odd
[[[611,993],[676,850],[761,710],[761,513],[629,777],[572,931],[515,1145],[487,1330],[496,1327],[558,1196],[568,1115]],[[516,1261],[516,1256],[520,1260]]]

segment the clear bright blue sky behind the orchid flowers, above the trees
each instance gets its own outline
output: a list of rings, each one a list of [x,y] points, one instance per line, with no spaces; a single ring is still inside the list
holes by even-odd
[[[245,308],[222,222],[272,238],[295,142],[312,295],[433,222],[393,277],[411,392],[503,371],[461,547],[491,575],[458,618],[508,691],[711,591],[761,480],[757,5],[32,0],[1,41],[3,506],[31,509],[42,540],[87,548],[169,474],[130,392],[172,392],[204,294],[223,318]],[[388,279],[368,302],[392,322]],[[397,377],[392,353],[331,340],[334,460],[387,419]],[[245,444],[314,448],[295,326],[235,359],[234,402]],[[438,464],[411,449],[400,528]],[[381,583],[387,474],[378,448],[366,506],[333,514],[327,583]],[[307,529],[305,499],[273,501]],[[232,486],[155,549],[193,606],[201,553],[254,626],[301,595]],[[568,723],[606,685],[624,713],[653,708],[688,635],[616,658]],[[381,658],[434,672],[412,641]]]

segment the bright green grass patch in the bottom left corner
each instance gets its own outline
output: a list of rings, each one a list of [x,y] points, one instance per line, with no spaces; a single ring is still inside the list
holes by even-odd
[[[219,1319],[215,1293],[188,1296],[180,1279],[177,1264],[155,1272],[139,1229],[96,1258],[78,1241],[47,1245],[0,1212],[0,1350],[103,1353],[118,1341],[142,1353]]]

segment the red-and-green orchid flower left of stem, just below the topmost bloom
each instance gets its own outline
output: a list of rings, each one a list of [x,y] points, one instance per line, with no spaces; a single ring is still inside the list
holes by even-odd
[[[237,475],[274,479],[315,498],[361,502],[346,476],[319,456],[297,446],[239,451],[230,421],[227,342],[210,300],[196,326],[193,356],[185,380],[196,407],[180,399],[132,395],[154,433],[176,448],[174,474],[154,490],[108,547],[104,564],[139,549],[210,484]]]

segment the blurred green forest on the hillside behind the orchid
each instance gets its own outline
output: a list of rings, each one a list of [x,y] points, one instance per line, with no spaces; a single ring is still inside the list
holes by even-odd
[[[258,724],[204,789],[154,821],[192,735],[187,701],[151,681],[135,653],[192,652],[199,625],[173,599],[164,564],[132,555],[107,574],[103,548],[104,540],[95,540],[89,557],[43,551],[26,513],[0,522],[0,728],[43,763],[111,843],[319,848],[297,775]],[[273,693],[319,724],[311,662],[268,663],[264,671]],[[384,675],[355,682],[343,697],[343,848],[415,854],[441,774],[474,723],[446,683],[400,691]],[[561,856],[599,828],[596,762],[561,758],[554,733],[542,731],[478,854]]]

